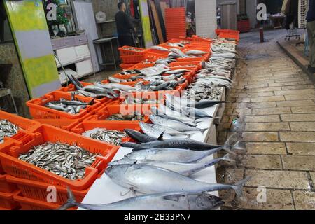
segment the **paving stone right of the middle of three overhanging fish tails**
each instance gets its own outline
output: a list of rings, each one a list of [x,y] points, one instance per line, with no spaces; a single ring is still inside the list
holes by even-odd
[[[280,155],[245,155],[239,166],[246,169],[282,169]]]

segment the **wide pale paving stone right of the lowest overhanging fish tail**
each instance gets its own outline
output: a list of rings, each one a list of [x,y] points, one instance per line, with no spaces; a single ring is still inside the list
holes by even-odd
[[[248,187],[265,186],[266,188],[297,190],[310,190],[311,188],[306,172],[246,169],[245,175],[251,176],[251,179],[245,184]]]

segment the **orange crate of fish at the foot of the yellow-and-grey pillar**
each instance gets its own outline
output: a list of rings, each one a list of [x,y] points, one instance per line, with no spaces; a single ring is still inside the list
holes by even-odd
[[[87,105],[85,109],[80,110],[77,114],[69,114],[64,111],[57,111],[55,109],[50,109],[45,106],[48,102],[58,101],[59,99],[71,100],[71,94],[67,92],[50,92],[45,94],[43,97],[31,99],[26,104],[29,106],[29,113],[33,118],[41,118],[41,119],[79,119],[83,116],[87,115],[88,112],[96,109],[101,106],[101,102],[98,99],[95,99],[94,104]],[[83,97],[80,95],[76,95],[76,98],[81,102],[90,103],[92,98]]]

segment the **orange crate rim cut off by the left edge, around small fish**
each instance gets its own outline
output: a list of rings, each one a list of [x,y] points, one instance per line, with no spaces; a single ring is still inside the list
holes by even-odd
[[[10,121],[10,123],[17,125],[18,127],[20,127],[20,129],[25,130],[25,131],[35,130],[39,125],[41,125],[36,120],[23,118],[13,113],[7,113],[1,110],[0,110],[0,120],[8,120]]]

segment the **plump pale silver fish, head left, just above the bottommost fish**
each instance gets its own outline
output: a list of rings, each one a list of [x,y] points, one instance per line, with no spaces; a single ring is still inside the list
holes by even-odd
[[[205,193],[233,189],[237,195],[242,196],[243,186],[249,180],[247,177],[235,185],[205,183],[167,169],[143,164],[111,166],[106,169],[105,173],[118,185],[139,193],[167,191]]]

